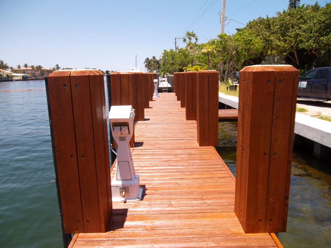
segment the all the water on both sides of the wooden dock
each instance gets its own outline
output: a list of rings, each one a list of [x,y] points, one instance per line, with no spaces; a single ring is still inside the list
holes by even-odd
[[[107,97],[107,96],[106,96]],[[220,122],[218,151],[236,165],[236,122]],[[0,247],[62,247],[43,80],[0,83]],[[284,247],[330,247],[330,168],[295,153]]]

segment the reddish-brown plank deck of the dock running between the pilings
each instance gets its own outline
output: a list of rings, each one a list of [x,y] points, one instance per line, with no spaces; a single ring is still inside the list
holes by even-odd
[[[231,172],[214,147],[199,147],[174,93],[159,95],[135,126],[143,199],[113,202],[107,232],[75,234],[69,247],[282,247],[274,234],[244,233]]]

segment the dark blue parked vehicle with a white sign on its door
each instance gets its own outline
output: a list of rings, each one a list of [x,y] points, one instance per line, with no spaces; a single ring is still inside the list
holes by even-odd
[[[299,77],[298,98],[331,100],[331,67],[314,68]]]

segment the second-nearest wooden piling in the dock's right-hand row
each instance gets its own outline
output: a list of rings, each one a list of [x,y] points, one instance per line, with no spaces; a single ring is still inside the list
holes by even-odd
[[[197,73],[197,129],[200,146],[218,145],[218,72]]]

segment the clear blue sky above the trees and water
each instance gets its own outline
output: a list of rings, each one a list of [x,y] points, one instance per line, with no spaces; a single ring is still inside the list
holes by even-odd
[[[274,16],[287,6],[288,0],[227,0],[224,31],[233,34],[244,27],[241,23]],[[164,49],[174,49],[174,38],[187,30],[196,32],[199,43],[216,38],[221,9],[222,0],[0,0],[0,60],[13,67],[126,71],[137,55],[144,70],[146,57],[160,58]],[[181,40],[177,45],[184,46]]]

